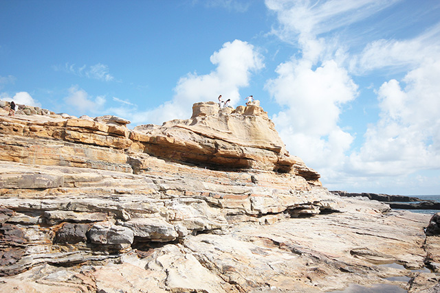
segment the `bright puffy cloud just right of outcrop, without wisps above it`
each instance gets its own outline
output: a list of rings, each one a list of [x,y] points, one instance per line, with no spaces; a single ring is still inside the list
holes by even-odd
[[[286,107],[273,120],[289,151],[316,168],[340,165],[353,137],[338,126],[339,115],[358,86],[333,60],[316,70],[305,60],[292,60],[276,72],[278,78],[267,82],[266,89]]]

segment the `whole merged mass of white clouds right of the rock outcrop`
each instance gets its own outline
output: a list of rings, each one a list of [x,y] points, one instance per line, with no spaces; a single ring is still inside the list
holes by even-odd
[[[265,2],[278,17],[273,33],[300,49],[266,84],[283,106],[273,119],[287,148],[316,167],[330,188],[366,190],[372,177],[378,188],[421,187],[429,177],[420,172],[440,168],[440,25],[411,39],[364,43],[358,55],[328,34],[396,2]],[[372,73],[388,79],[375,89],[378,119],[353,150],[354,134],[339,125],[340,115],[359,95],[353,76]],[[389,78],[393,73],[404,78]]]

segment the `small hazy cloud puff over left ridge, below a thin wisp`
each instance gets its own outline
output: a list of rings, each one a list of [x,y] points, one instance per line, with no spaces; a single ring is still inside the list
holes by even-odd
[[[75,85],[70,87],[69,95],[64,98],[64,101],[80,111],[80,115],[84,115],[85,113],[98,113],[104,106],[106,99],[103,96],[97,96],[93,99],[86,91]]]

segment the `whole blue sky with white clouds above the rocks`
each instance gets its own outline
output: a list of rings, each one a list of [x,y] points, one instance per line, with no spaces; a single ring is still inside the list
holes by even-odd
[[[329,190],[440,194],[438,0],[0,0],[0,99],[133,128],[253,95]]]

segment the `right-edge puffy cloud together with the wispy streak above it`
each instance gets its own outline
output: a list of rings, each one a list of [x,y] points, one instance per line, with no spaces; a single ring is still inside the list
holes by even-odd
[[[415,38],[374,41],[353,58],[355,71],[391,67],[406,74],[377,90],[380,118],[368,126],[362,148],[350,155],[350,172],[407,178],[440,169],[439,37],[435,25]]]

